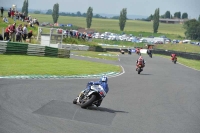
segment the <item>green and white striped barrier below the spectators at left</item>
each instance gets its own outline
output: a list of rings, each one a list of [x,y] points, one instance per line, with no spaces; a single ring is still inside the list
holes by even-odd
[[[25,44],[19,42],[0,41],[0,54],[20,54],[34,56],[51,56],[59,58],[70,58],[69,49],[58,49],[36,44]]]

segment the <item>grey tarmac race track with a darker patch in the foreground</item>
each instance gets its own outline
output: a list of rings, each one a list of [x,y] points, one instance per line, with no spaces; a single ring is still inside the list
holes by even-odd
[[[111,62],[125,73],[109,78],[101,107],[81,109],[73,99],[90,80],[0,79],[0,133],[200,133],[200,72],[170,60],[137,55]]]

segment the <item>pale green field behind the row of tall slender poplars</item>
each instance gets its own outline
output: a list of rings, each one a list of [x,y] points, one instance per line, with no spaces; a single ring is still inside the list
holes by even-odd
[[[51,15],[46,14],[30,14],[37,18],[40,22],[53,22]],[[59,16],[58,23],[72,23],[79,27],[86,27],[86,18],[84,17],[71,17],[71,16]],[[91,29],[96,29],[100,32],[104,31],[118,31],[119,32],[119,20],[115,19],[92,19]],[[124,29],[125,32],[153,32],[153,22],[127,20]],[[160,23],[158,33],[162,34],[174,34],[184,36],[184,29],[181,24],[164,24]]]

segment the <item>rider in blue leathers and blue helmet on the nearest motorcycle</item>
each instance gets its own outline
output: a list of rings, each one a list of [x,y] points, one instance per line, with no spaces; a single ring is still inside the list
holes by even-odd
[[[83,91],[81,91],[81,93],[79,94],[79,97],[80,97],[83,93],[89,92],[89,90],[90,90],[90,88],[91,88],[92,85],[101,85],[102,88],[104,89],[104,91],[106,92],[106,94],[107,94],[108,91],[109,91],[109,87],[108,87],[108,78],[107,78],[107,76],[102,76],[102,77],[100,78],[99,81],[96,81],[96,82],[94,82],[94,81],[89,81],[89,82],[87,83],[86,89],[84,89]],[[79,98],[79,97],[78,97],[78,98]],[[98,106],[100,106],[101,102],[102,102],[102,100],[98,103]]]

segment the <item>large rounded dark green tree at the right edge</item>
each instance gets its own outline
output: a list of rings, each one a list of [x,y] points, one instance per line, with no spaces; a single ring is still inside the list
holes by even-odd
[[[185,36],[188,39],[200,40],[200,22],[196,19],[191,19],[184,23]]]

